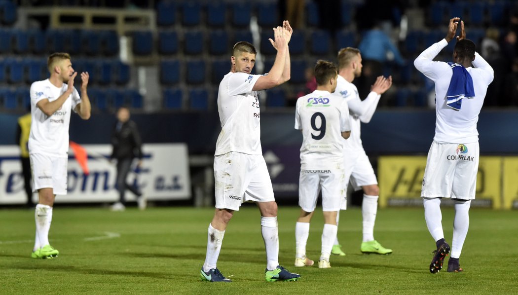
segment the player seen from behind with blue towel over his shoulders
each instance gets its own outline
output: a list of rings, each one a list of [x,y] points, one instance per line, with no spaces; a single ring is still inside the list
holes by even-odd
[[[414,66],[435,82],[435,137],[431,143],[423,178],[421,197],[426,226],[436,241],[437,250],[430,272],[442,269],[450,245],[442,231],[441,198],[454,201],[453,239],[448,272],[462,272],[459,265],[462,246],[469,227],[469,207],[475,198],[479,167],[477,121],[487,86],[493,81],[493,68],[475,51],[473,41],[466,39],[464,22],[453,50],[453,63],[433,59],[455,37],[459,18],[452,18],[444,39],[428,47]]]

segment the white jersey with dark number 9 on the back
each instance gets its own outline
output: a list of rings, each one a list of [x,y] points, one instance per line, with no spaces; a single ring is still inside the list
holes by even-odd
[[[295,129],[302,130],[301,169],[336,169],[343,162],[341,132],[351,131],[347,101],[315,90],[299,97]]]

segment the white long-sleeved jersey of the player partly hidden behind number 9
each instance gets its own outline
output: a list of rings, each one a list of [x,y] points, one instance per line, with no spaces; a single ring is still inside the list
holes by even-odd
[[[376,111],[381,95],[371,92],[366,99],[359,98],[356,85],[338,75],[336,90],[333,94],[343,97],[347,101],[351,120],[351,137],[343,139],[344,154],[351,154],[351,150],[363,150],[360,132],[361,122],[369,123]]]

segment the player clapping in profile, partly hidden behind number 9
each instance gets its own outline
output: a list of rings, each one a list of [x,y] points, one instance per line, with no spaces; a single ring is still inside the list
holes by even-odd
[[[356,86],[352,83],[362,73],[362,55],[356,48],[342,48],[338,52],[338,82],[335,94],[340,95],[347,101],[351,120],[351,138],[342,140],[343,163],[345,171],[344,183],[350,183],[354,190],[363,189],[362,216],[363,216],[363,241],[360,246],[362,253],[390,254],[391,249],[383,247],[374,239],[374,224],[378,211],[378,195],[380,188],[374,169],[370,164],[367,154],[363,149],[360,137],[360,124],[369,123],[376,111],[378,101],[385,91],[392,86],[392,76],[384,78],[379,76],[372,85],[367,98],[361,100]],[[346,202],[342,204],[345,209]],[[337,214],[336,224],[340,214]],[[333,245],[333,254],[345,256],[338,242],[338,237]]]

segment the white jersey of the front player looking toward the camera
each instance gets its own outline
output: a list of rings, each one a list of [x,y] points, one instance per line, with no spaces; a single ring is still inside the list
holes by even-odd
[[[261,110],[257,92],[252,88],[262,75],[229,72],[221,80],[218,91],[218,112],[221,132],[215,155],[239,152],[262,155]]]

